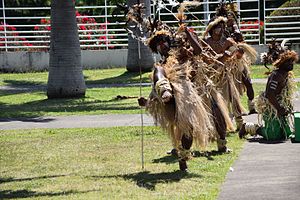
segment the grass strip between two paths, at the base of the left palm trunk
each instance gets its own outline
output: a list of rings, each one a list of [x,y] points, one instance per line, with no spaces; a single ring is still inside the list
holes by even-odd
[[[147,96],[150,87],[142,88]],[[139,113],[139,87],[91,88],[79,99],[47,99],[41,91],[0,91],[0,118]],[[118,100],[117,95],[132,98]]]

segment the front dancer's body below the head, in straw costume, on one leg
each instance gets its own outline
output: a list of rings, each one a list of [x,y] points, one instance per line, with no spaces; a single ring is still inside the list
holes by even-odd
[[[191,67],[179,59],[185,53],[180,47],[173,49],[166,62],[155,67],[153,88],[146,105],[178,150],[181,170],[187,169],[193,142],[205,148],[216,139],[203,99],[190,80]]]

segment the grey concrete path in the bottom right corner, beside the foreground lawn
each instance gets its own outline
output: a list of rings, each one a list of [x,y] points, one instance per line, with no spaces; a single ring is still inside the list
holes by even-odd
[[[300,199],[300,143],[246,142],[219,200]]]

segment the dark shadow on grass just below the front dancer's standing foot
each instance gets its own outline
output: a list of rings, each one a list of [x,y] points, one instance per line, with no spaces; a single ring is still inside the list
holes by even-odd
[[[93,178],[123,178],[124,180],[134,181],[138,187],[145,188],[147,190],[155,190],[158,183],[172,183],[179,182],[181,179],[188,178],[202,178],[203,176],[195,173],[187,173],[183,171],[175,172],[162,172],[162,173],[150,173],[149,171],[115,175],[115,176],[93,176]]]

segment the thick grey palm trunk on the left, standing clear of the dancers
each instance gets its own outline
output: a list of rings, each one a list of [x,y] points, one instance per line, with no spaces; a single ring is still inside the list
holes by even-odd
[[[71,0],[52,0],[47,96],[82,97],[85,90],[75,5]]]

